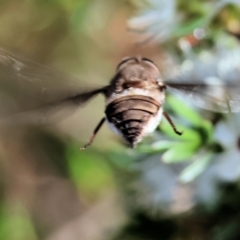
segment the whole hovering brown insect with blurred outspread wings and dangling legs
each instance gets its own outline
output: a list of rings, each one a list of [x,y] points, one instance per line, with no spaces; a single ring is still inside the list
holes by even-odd
[[[53,78],[59,80],[58,87],[50,85]],[[52,90],[56,92],[59,91],[60,83],[63,83],[62,92],[66,92],[64,84],[68,83],[67,76],[30,60],[12,56],[3,50],[0,50],[0,79],[1,81],[7,79],[7,82],[11,79],[18,86],[21,86],[23,81],[25,85],[21,91],[34,92],[32,88],[28,89],[26,85],[28,82],[34,86],[34,89],[40,88],[41,94],[45,92],[45,96],[49,87],[52,87]],[[46,84],[46,87],[42,84]],[[6,88],[6,86],[8,84],[5,82],[3,87]],[[69,93],[69,96],[64,97],[60,96],[61,91],[59,91],[59,93],[54,94],[54,98],[57,98],[57,100],[51,99],[51,90],[49,91],[51,94],[48,95],[50,99],[45,99],[40,94],[38,98],[43,103],[34,107],[33,110],[41,112],[44,109],[54,109],[56,107],[80,106],[96,95],[103,94],[106,99],[105,116],[97,124],[91,138],[81,149],[84,150],[92,144],[104,122],[107,122],[110,129],[120,135],[131,147],[135,147],[145,136],[154,132],[162,116],[167,119],[176,134],[182,134],[175,127],[170,116],[163,110],[167,88],[184,93],[186,98],[209,110],[219,112],[240,111],[239,87],[226,84],[208,85],[201,81],[195,81],[194,83],[173,80],[163,81],[155,63],[141,56],[122,59],[116,68],[115,75],[107,86],[88,91],[78,91],[77,88],[74,88],[74,93]],[[17,89],[17,92],[19,92],[19,89]],[[59,97],[56,97],[57,95]],[[21,99],[26,102],[24,97]],[[35,98],[34,95],[32,101]],[[39,102],[39,100],[37,101]],[[31,107],[25,109],[25,112],[31,112]]]

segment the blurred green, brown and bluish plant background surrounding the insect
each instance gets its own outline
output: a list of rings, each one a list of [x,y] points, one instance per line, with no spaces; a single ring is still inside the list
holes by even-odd
[[[14,65],[0,52],[0,114],[75,84],[104,86],[136,54],[165,79],[238,83],[239,16],[239,0],[2,0],[0,47],[23,58]],[[239,114],[167,100],[183,136],[163,120],[134,150],[104,126],[80,151],[104,115],[102,96],[53,119],[36,110],[2,123],[0,239],[239,239]]]

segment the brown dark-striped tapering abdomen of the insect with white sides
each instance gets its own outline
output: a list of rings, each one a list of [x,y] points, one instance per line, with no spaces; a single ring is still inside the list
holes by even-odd
[[[162,109],[160,103],[149,96],[131,95],[109,103],[105,113],[110,128],[134,147],[155,130]]]

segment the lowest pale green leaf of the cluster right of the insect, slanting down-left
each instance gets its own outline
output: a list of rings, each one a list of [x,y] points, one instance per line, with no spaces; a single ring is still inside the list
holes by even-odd
[[[207,153],[200,158],[197,158],[192,164],[182,171],[180,180],[184,183],[194,180],[206,169],[210,160],[212,159],[212,156],[213,153]]]

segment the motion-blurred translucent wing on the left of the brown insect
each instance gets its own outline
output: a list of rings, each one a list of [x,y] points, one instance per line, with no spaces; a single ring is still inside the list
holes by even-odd
[[[104,88],[82,89],[79,81],[0,49],[0,119],[42,122],[61,109],[76,109]]]

